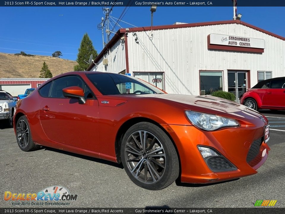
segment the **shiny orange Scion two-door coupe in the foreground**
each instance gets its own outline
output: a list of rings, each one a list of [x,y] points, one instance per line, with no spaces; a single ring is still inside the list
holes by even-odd
[[[114,73],[70,72],[17,102],[21,150],[39,145],[123,163],[140,187],[176,179],[231,180],[257,173],[270,148],[268,120],[213,96],[167,94]]]

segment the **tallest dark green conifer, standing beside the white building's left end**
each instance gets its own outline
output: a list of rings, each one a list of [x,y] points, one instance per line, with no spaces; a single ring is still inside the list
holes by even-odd
[[[76,62],[78,65],[74,66],[75,71],[83,71],[88,68],[88,64],[85,61],[88,61],[90,55],[93,54],[93,58],[96,58],[97,51],[94,49],[92,41],[90,40],[87,33],[84,34],[81,43],[80,48],[78,49],[77,59]]]

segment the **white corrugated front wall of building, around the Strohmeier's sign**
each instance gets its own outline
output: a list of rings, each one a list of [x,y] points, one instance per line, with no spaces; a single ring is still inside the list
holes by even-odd
[[[264,39],[264,53],[208,50],[210,33]],[[258,70],[285,76],[285,41],[241,24],[155,30],[152,40],[150,31],[136,34],[128,36],[130,73],[165,72],[168,93],[199,95],[199,70],[223,70],[225,91],[227,70],[250,70],[251,86],[257,83]]]

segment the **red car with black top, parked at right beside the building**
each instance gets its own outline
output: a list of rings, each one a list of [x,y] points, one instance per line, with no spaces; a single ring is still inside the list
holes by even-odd
[[[285,77],[260,81],[240,98],[240,103],[254,110],[285,109]]]

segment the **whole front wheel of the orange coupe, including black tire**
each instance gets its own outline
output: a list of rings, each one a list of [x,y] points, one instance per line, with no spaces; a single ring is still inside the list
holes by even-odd
[[[130,179],[148,190],[163,189],[179,175],[178,155],[172,141],[161,128],[149,122],[137,123],[126,131],[121,159]]]

